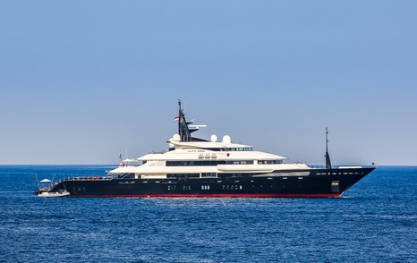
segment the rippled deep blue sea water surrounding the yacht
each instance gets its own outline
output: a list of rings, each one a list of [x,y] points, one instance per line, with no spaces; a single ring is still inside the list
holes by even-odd
[[[417,167],[340,199],[42,199],[38,178],[108,165],[0,165],[1,262],[417,262]]]

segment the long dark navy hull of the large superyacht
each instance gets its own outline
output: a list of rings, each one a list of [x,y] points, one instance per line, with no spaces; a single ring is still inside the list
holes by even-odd
[[[51,191],[66,189],[70,197],[334,198],[373,169],[309,169],[186,179],[72,178],[58,182]]]

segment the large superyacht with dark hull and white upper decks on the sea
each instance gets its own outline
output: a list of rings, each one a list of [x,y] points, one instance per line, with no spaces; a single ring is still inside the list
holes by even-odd
[[[68,191],[70,197],[331,198],[375,169],[331,165],[327,130],[326,165],[320,167],[287,163],[228,135],[202,140],[191,133],[204,125],[187,122],[181,101],[178,106],[178,133],[166,152],[124,159],[106,176],[64,178],[46,191]]]

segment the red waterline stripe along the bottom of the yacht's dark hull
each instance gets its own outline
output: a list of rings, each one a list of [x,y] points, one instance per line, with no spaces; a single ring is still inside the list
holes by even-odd
[[[124,198],[336,198],[340,193],[190,193],[190,194],[104,194],[70,195],[70,197],[124,197]]]

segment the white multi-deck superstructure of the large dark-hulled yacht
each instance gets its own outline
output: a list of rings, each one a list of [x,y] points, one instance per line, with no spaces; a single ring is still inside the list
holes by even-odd
[[[217,177],[221,174],[268,174],[276,170],[305,170],[304,164],[284,164],[285,157],[232,143],[229,136],[217,141],[181,141],[179,134],[168,140],[169,151],[125,159],[109,174],[134,174],[135,178]]]

